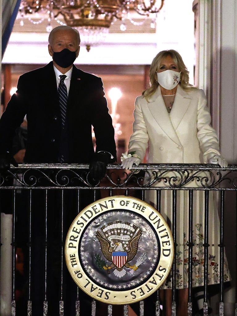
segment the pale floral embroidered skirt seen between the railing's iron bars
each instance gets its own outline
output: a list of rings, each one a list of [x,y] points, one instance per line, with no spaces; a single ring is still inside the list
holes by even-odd
[[[146,193],[146,202],[156,208],[156,191]],[[176,222],[176,289],[188,287],[188,191],[177,191]],[[193,191],[193,249],[192,285],[204,285],[204,191]],[[172,191],[161,191],[161,215],[172,231]],[[220,220],[214,206],[213,193],[209,193],[209,236],[208,243],[208,284],[220,283]],[[224,252],[224,282],[229,281],[230,273]],[[161,289],[172,288],[172,275],[167,277]]]

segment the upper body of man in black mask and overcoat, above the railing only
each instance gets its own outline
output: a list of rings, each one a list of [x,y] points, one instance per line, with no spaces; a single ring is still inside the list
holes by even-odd
[[[73,65],[80,51],[79,44],[76,30],[66,26],[54,28],[48,45],[53,61],[19,77],[17,92],[12,95],[0,120],[1,160],[8,158],[15,130],[25,115],[28,122],[25,162],[100,161],[101,156],[94,153],[91,125],[96,138],[96,153],[109,152],[109,158],[112,156],[115,160],[114,129],[101,78]],[[58,92],[62,75],[66,76],[61,80],[68,94],[66,109],[59,104],[64,93],[64,90],[61,94]]]

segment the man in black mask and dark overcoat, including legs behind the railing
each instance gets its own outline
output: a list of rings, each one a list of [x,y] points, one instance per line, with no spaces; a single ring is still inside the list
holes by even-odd
[[[98,182],[105,175],[107,164],[116,160],[114,129],[104,97],[102,80],[77,69],[73,64],[80,51],[80,36],[75,29],[67,26],[54,28],[49,35],[48,50],[53,60],[45,67],[19,77],[17,92],[12,95],[0,119],[0,169],[8,169],[10,163],[17,166],[12,157],[12,139],[16,128],[21,125],[26,115],[28,135],[25,162],[89,163],[91,179]],[[95,152],[92,126],[96,138]],[[68,209],[76,210],[76,205],[70,203],[70,192],[68,197],[66,193],[64,200],[66,198]],[[38,201],[37,205],[32,206],[31,297],[34,316],[42,315],[44,300],[45,202],[42,194],[35,193],[35,199]],[[52,192],[49,199],[50,194],[51,192],[48,192],[47,225],[48,242],[52,241],[53,246],[48,246],[49,282],[46,287],[46,299],[49,301],[49,315],[58,315],[58,303],[62,299],[59,293],[61,279],[57,275],[58,273],[61,276],[62,218],[58,210],[58,193]],[[88,199],[88,204],[91,202]],[[67,212],[70,210],[65,213]],[[66,219],[66,226],[68,222],[70,224]],[[64,227],[64,231],[68,228]],[[70,287],[70,283],[67,283],[63,299],[70,301],[70,298],[73,298],[74,305],[75,290],[74,294],[69,295]],[[50,304],[50,299],[57,302],[57,306],[56,303]],[[86,301],[82,303],[86,304]],[[69,302],[65,308],[65,315],[75,315],[75,305],[72,307]],[[86,315],[87,310],[82,313]]]

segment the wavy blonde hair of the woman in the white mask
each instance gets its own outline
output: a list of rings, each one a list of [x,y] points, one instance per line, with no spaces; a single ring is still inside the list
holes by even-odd
[[[167,56],[171,56],[173,58],[174,63],[179,67],[181,71],[181,78],[179,85],[180,87],[187,91],[191,89],[196,89],[194,86],[192,86],[189,83],[189,71],[187,70],[187,67],[185,66],[182,57],[178,52],[176,52],[173,49],[161,51],[159,52],[155,58],[152,60],[151,67],[150,67],[150,87],[143,91],[143,96],[146,100],[149,99],[154,93],[157,87],[159,86],[159,83],[157,82],[157,74],[156,71],[160,68],[160,64],[163,58],[166,58]]]

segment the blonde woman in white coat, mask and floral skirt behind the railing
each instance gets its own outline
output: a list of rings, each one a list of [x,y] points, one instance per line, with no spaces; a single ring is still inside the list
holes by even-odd
[[[216,163],[227,167],[221,157],[216,131],[211,127],[210,112],[203,90],[189,84],[188,70],[174,50],[159,52],[150,67],[150,88],[135,101],[133,134],[129,141],[129,152],[121,159],[122,167],[131,169],[139,165],[149,146],[149,163]],[[152,176],[152,175],[151,175]],[[164,182],[155,184],[165,186]],[[189,186],[194,186],[192,182]],[[198,183],[196,184],[198,185]],[[200,184],[199,184],[200,185]],[[161,214],[172,223],[172,192],[161,194]],[[146,201],[155,206],[155,191],[146,194]],[[219,220],[210,195],[209,203],[209,282],[219,283]],[[204,284],[203,252],[204,195],[193,193],[193,286]],[[172,225],[172,224],[171,224]],[[215,235],[214,235],[215,232]],[[188,288],[188,192],[177,194],[177,249],[176,288],[180,289],[177,315],[187,315]],[[225,259],[224,280],[230,279]],[[166,281],[164,289],[171,289]],[[167,291],[171,297],[171,291]],[[171,308],[167,309],[171,315]]]

